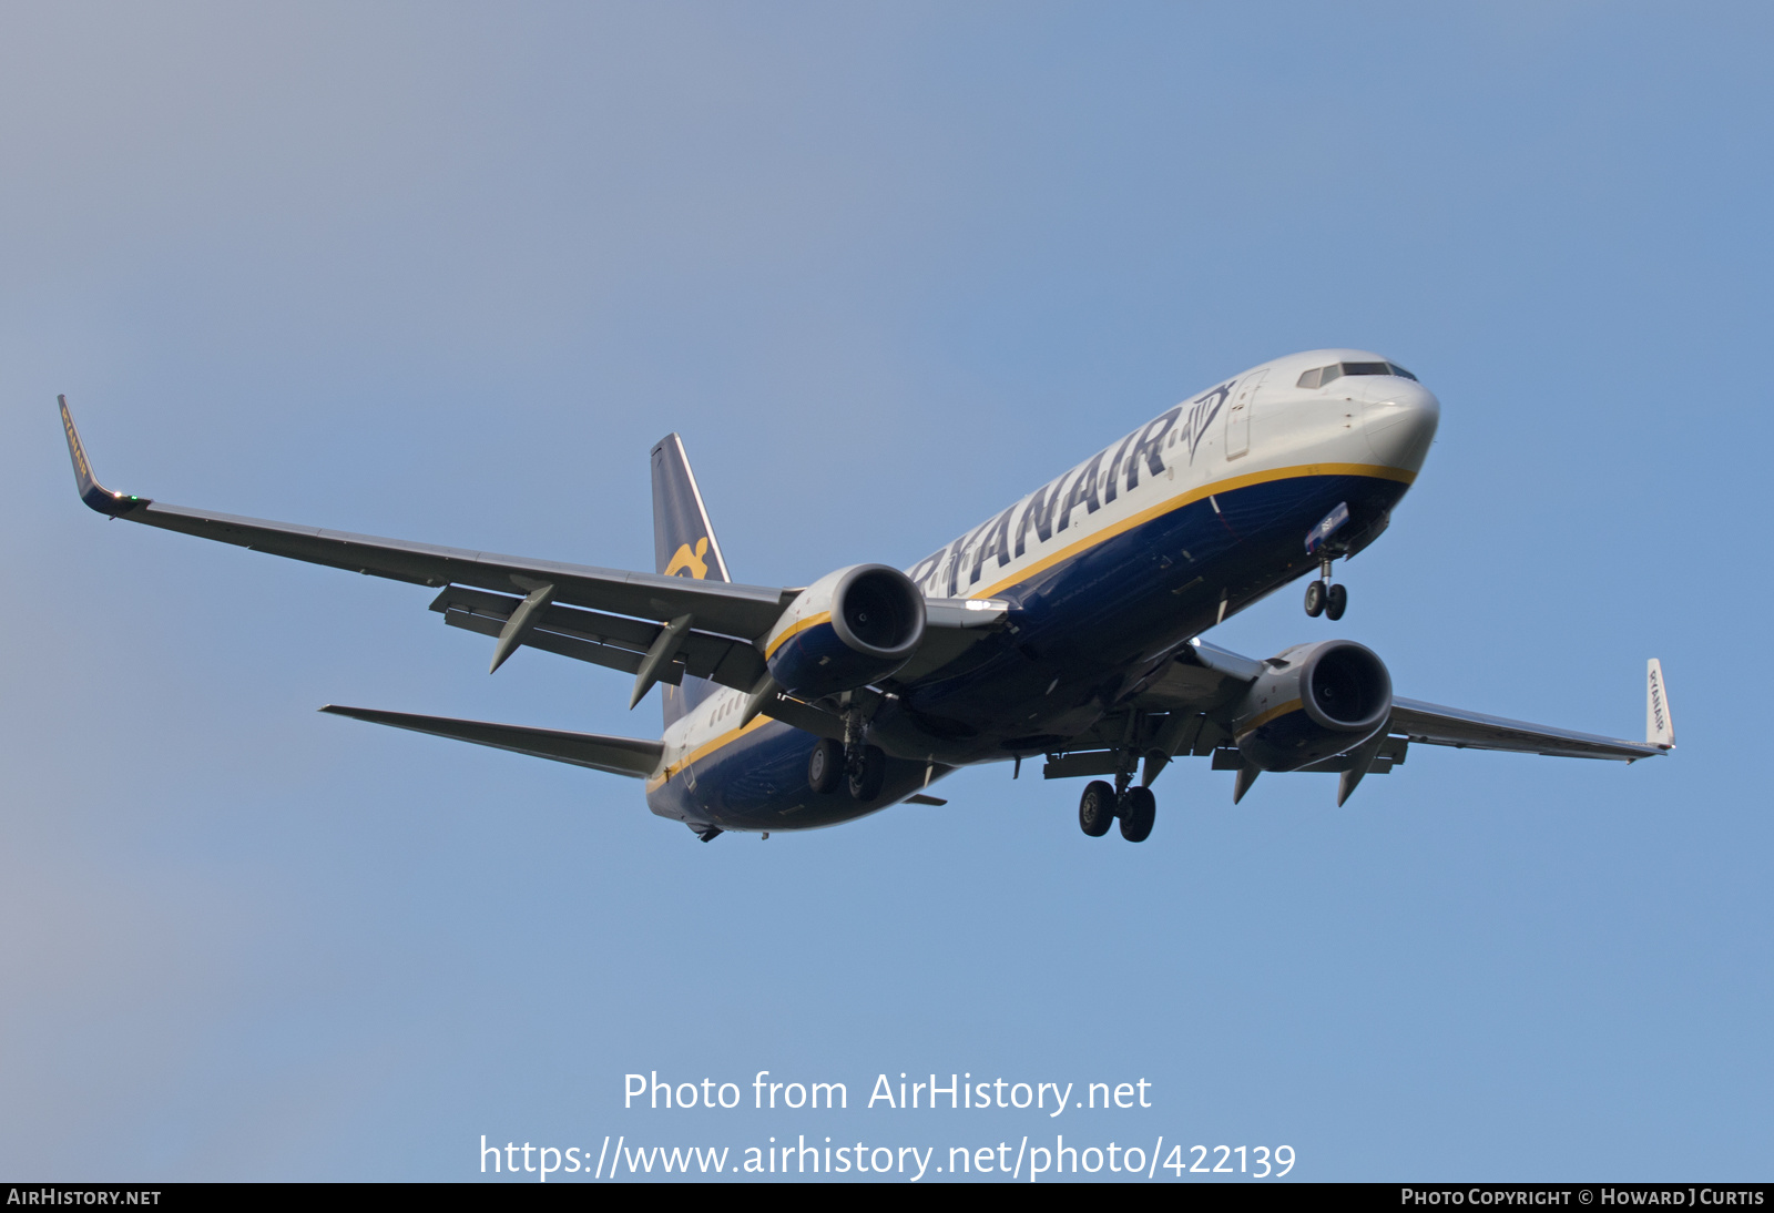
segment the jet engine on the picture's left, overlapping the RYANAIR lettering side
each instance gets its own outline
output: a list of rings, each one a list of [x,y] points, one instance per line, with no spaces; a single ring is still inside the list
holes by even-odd
[[[765,637],[782,690],[820,699],[880,681],[924,638],[924,596],[899,569],[857,564],[800,592]]]

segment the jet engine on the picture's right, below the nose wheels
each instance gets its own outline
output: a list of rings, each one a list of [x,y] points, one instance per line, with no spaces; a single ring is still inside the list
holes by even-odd
[[[1238,750],[1260,770],[1297,771],[1354,750],[1391,720],[1393,676],[1366,646],[1300,644],[1267,665],[1233,716]]]

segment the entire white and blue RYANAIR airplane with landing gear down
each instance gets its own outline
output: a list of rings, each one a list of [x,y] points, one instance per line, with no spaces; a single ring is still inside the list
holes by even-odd
[[[656,571],[623,573],[234,518],[94,481],[66,397],[80,495],[112,518],[438,591],[444,622],[662,685],[660,740],[371,708],[341,716],[646,780],[655,814],[704,842],[812,830],[928,789],[958,766],[1041,757],[1089,779],[1079,825],[1153,828],[1153,780],[1180,757],[1236,771],[1325,771],[1338,803],[1410,745],[1632,763],[1675,747],[1662,670],[1646,738],[1549,729],[1393,695],[1380,658],[1311,640],[1261,661],[1201,633],[1288,582],[1341,619],[1332,580],[1380,537],[1416,481],[1440,404],[1359,349],[1315,349],[1233,376],[899,571],[836,569],[805,587],[740,585],[683,442],[653,447]]]

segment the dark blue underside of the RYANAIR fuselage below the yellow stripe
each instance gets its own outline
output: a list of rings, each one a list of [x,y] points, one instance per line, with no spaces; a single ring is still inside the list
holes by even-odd
[[[768,722],[672,775],[648,793],[648,803],[692,825],[805,830],[875,812],[954,766],[1064,748],[1192,637],[1316,569],[1306,536],[1338,504],[1350,511],[1341,534],[1359,536],[1385,520],[1405,488],[1371,475],[1249,484],[997,589],[993,598],[1011,605],[1013,628],[899,688],[899,699],[876,715],[871,741],[898,757],[889,757],[873,802],[812,793],[814,738]],[[976,591],[988,583],[990,569]],[[685,692],[695,695],[692,681]]]

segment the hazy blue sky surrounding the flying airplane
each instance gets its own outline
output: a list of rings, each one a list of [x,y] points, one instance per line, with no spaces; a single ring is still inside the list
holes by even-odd
[[[770,1069],[1146,1078],[1079,1140],[1300,1178],[1767,1178],[1763,9],[0,28],[0,1170],[1063,1128],[621,1108]],[[1400,693],[1620,736],[1660,656],[1675,757],[1423,747],[1341,810],[1173,768],[1137,848],[999,766],[703,846],[635,784],[318,715],[658,727],[610,672],[488,677],[424,591],[103,523],[51,408],[124,491],[617,567],[676,429],[734,575],[788,585],[1318,346],[1444,406],[1339,635]],[[1323,630],[1290,591],[1212,638]]]

